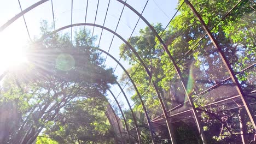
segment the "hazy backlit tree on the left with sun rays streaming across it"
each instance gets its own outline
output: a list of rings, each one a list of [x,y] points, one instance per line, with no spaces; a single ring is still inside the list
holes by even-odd
[[[1,127],[6,131],[1,134],[4,136],[1,142],[32,143],[42,131],[47,134],[48,129],[44,129],[48,127],[72,130],[68,128],[72,123],[60,125],[59,122],[63,116],[72,120],[76,116],[73,109],[83,110],[84,117],[92,117],[90,122],[102,129],[96,126],[91,129],[98,136],[109,135],[111,140],[107,118],[98,112],[104,110],[107,100],[102,95],[116,77],[112,69],[101,66],[102,58],[94,47],[95,37],[91,38],[88,31],[80,29],[71,43],[68,34],[51,34],[45,21],[41,30],[42,38],[29,45],[28,63],[22,65],[22,71],[11,71],[4,81],[0,105],[3,109],[10,107],[15,115],[2,120]],[[86,113],[86,105],[71,106],[77,103],[99,106],[89,111],[92,113]],[[1,117],[4,115],[1,113]],[[77,131],[73,132],[72,135]],[[79,136],[75,138],[74,141],[85,141]]]

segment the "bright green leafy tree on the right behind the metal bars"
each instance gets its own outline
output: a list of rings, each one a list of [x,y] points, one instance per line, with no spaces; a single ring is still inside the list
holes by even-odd
[[[178,6],[182,2],[179,1]],[[238,3],[239,1],[201,0],[190,2],[202,16],[206,25],[212,29],[211,32],[214,38],[217,39],[222,47],[234,71],[238,72],[255,62],[255,3],[253,1],[242,1]],[[236,8],[224,20],[220,21],[237,3]],[[240,107],[241,102],[238,98],[234,99],[234,102],[227,101],[228,104],[225,106],[219,106],[219,104],[203,107],[206,104],[225,99],[228,96],[234,96],[237,92],[234,83],[232,81],[226,81],[211,92],[199,95],[205,89],[223,81],[229,74],[211,40],[207,35],[205,38],[202,38],[206,32],[185,3],[179,10],[179,13],[179,15],[174,17],[166,31],[163,31],[159,24],[155,25],[154,28],[162,35],[162,39],[182,71],[187,92],[193,97],[194,105],[202,115],[203,129],[209,141],[211,140],[213,143],[228,143],[232,141],[248,143],[249,140],[254,139],[254,130],[248,122],[249,119],[245,110],[240,108],[238,110],[225,111],[231,107]],[[177,79],[173,64],[170,62],[167,53],[162,51],[159,41],[155,42],[155,37],[150,32],[150,29],[148,27],[141,29],[139,36],[131,38],[130,44],[135,47],[136,51],[149,67],[155,81],[165,74],[158,81],[158,86],[167,109],[183,104],[187,99],[180,85],[180,80]],[[124,44],[120,46],[120,51],[123,50],[125,52],[122,57],[132,65],[129,72],[133,73],[137,69],[139,62],[127,47],[125,49]],[[243,71],[241,75],[237,75],[248,97],[248,93],[255,90],[255,86],[252,83],[255,81],[252,78],[253,75],[255,75],[255,71],[253,70]],[[140,93],[147,91],[150,85],[149,78],[142,67],[137,69],[137,72],[132,78],[139,87]],[[127,77],[124,75],[121,81],[126,80]],[[137,99],[137,95],[133,95],[133,100],[137,102]],[[158,107],[159,103],[157,102],[153,89],[150,89],[143,96],[143,99],[146,107],[149,109],[149,114],[152,117],[158,116],[158,111],[160,111]],[[154,103],[150,101],[154,101]],[[250,103],[254,101],[255,99],[249,99]],[[180,106],[181,108],[173,110],[171,114],[187,109],[186,105],[184,103],[183,106]],[[141,105],[137,102],[135,110],[141,110],[139,108],[141,108]],[[254,106],[252,108],[255,109]],[[236,117],[237,119],[235,119]],[[235,122],[232,123],[232,121]],[[184,130],[184,127],[181,125],[177,125],[177,127],[178,131]],[[230,132],[236,133],[236,131],[241,131],[241,133],[245,134],[240,136],[242,139],[238,139],[236,135],[230,136]],[[247,133],[249,133],[248,137],[246,135]]]

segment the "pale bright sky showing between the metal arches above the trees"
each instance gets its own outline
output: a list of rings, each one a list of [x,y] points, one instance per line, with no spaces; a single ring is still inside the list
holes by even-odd
[[[38,2],[39,0],[20,0],[22,10],[30,7],[30,5]],[[86,16],[86,22],[94,23],[96,9],[97,9],[97,0],[73,0],[73,21],[72,23],[83,23],[85,21],[85,11],[86,3],[88,1],[88,12]],[[146,4],[146,0],[127,0],[126,3],[135,8],[139,13],[142,13],[142,10]],[[53,0],[54,8],[54,17],[55,17],[55,27],[61,28],[66,25],[71,25],[71,5],[72,0]],[[107,11],[108,0],[100,0],[98,4],[98,11],[95,23],[98,25],[103,25],[104,17]],[[105,22],[105,27],[115,31],[117,27],[119,17],[124,5],[118,1],[110,0],[107,19]],[[149,23],[162,23],[165,27],[168,22],[171,20],[174,13],[176,13],[177,0],[149,0],[145,10],[143,11],[143,16],[149,21]],[[19,6],[18,0],[8,0],[0,2],[0,26],[4,25],[5,22],[10,20],[16,14],[20,13],[21,9]],[[53,11],[51,9],[51,1],[45,2],[33,10],[29,11],[24,15],[28,32],[30,33],[31,39],[36,39],[40,37],[40,22],[42,20],[48,21],[50,24],[53,23]],[[124,39],[129,39],[133,28],[135,28],[136,22],[139,17],[133,13],[129,8],[125,7],[119,25],[117,27],[117,33],[121,35]],[[146,23],[142,20],[139,20],[138,25],[135,28],[135,32],[132,36],[139,35],[139,29],[146,27]],[[73,33],[81,27],[73,27]],[[92,31],[92,26],[86,26],[87,29]],[[71,28],[65,29],[62,32],[71,32]],[[95,27],[94,35],[100,37],[101,28]],[[119,46],[123,43],[118,37],[114,37],[113,43],[110,46],[110,42],[113,38],[113,34],[108,31],[103,31],[100,48],[108,51],[115,58],[119,59]],[[98,45],[98,40],[96,40],[95,45]],[[10,26],[0,32],[0,74],[3,73],[6,69],[11,69],[16,67],[17,63],[25,62],[26,57],[22,55],[22,52],[26,49],[26,44],[30,41],[25,26],[23,17],[20,17],[15,22],[11,23]],[[106,55],[102,55],[106,57]],[[11,63],[7,63],[11,61]],[[129,63],[124,62],[121,59],[121,64],[127,69],[130,67]],[[106,60],[106,66],[115,68],[117,63],[115,63],[110,57]],[[123,74],[121,67],[117,67],[115,70],[115,75],[118,76],[118,79]],[[120,93],[120,88],[118,86],[111,87],[112,92],[115,96]],[[125,89],[126,90],[126,89]],[[109,101],[112,104],[113,98],[110,93],[107,93],[109,96]],[[133,92],[127,93],[127,97],[131,105],[133,101],[130,100],[130,97],[133,95]],[[118,101],[125,107],[128,108],[127,103],[125,102],[124,95],[120,94]]]

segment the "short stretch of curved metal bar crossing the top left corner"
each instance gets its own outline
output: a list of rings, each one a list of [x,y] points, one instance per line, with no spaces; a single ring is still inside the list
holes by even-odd
[[[9,21],[7,21],[6,23],[4,23],[3,26],[0,27],[0,32],[2,32],[5,28],[7,28],[11,23],[13,23],[14,21],[16,21],[17,19],[19,19],[19,17],[23,16],[24,14],[26,14],[28,11],[36,8],[38,5],[43,4],[45,2],[47,2],[49,0],[41,0],[33,5],[31,5],[30,7],[26,8],[25,10],[22,10],[19,14],[15,15],[13,18],[11,18]]]

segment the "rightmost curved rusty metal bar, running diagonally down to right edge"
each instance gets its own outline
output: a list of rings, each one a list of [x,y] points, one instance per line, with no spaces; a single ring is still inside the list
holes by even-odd
[[[255,117],[254,117],[253,112],[251,110],[251,107],[249,106],[248,101],[245,98],[246,97],[245,93],[243,93],[243,90],[242,90],[242,88],[241,88],[241,86],[240,86],[240,84],[239,84],[239,82],[237,80],[237,77],[236,77],[234,71],[232,70],[231,65],[230,65],[228,59],[225,56],[225,53],[223,52],[222,48],[219,46],[218,41],[213,37],[210,29],[207,27],[205,21],[203,21],[202,17],[196,11],[194,6],[188,0],[185,0],[185,2],[188,4],[188,6],[191,9],[191,11],[193,11],[193,13],[197,17],[197,19],[200,21],[203,29],[205,29],[205,31],[206,31],[208,37],[211,39],[213,45],[217,48],[218,53],[220,55],[220,58],[222,58],[222,61],[223,61],[224,65],[225,65],[226,69],[228,70],[228,73],[229,73],[232,81],[236,85],[237,92],[240,95],[240,98],[241,98],[241,100],[243,102],[243,105],[245,105],[247,114],[248,114],[248,116],[249,116],[249,118],[250,118],[250,120],[251,120],[251,122],[253,124],[253,128],[254,128],[254,130],[256,130],[256,123],[255,123],[256,120],[255,120]]]

